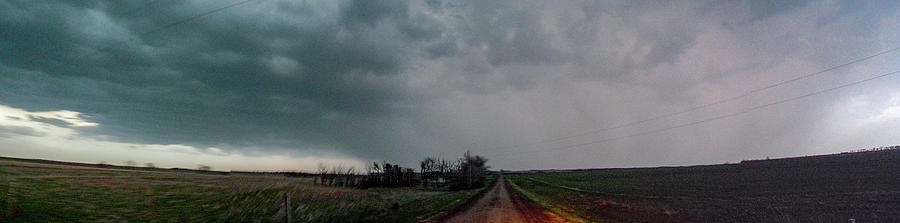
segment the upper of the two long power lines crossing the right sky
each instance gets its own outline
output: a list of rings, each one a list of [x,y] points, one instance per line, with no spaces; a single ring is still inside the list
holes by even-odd
[[[700,109],[704,109],[704,108],[716,106],[716,105],[719,105],[719,104],[728,103],[728,102],[735,101],[735,100],[738,100],[738,99],[741,99],[741,98],[745,98],[745,97],[747,97],[747,96],[753,95],[753,94],[755,94],[755,93],[757,93],[757,92],[760,92],[760,91],[772,89],[772,88],[775,88],[775,87],[778,87],[778,86],[781,86],[781,85],[785,85],[785,84],[788,84],[788,83],[791,83],[791,82],[799,81],[799,80],[802,80],[802,79],[806,79],[806,78],[818,76],[818,75],[820,75],[820,74],[823,74],[823,73],[826,73],[826,72],[829,72],[829,71],[837,70],[837,69],[840,69],[840,68],[849,66],[849,65],[851,65],[851,64],[855,64],[855,63],[859,63],[859,62],[862,62],[862,61],[866,61],[866,60],[869,60],[869,59],[872,59],[872,58],[875,58],[875,57],[878,57],[878,56],[881,56],[881,55],[884,55],[884,54],[888,54],[888,53],[891,53],[891,52],[894,52],[894,51],[897,51],[897,50],[900,50],[900,47],[891,48],[891,49],[884,50],[884,51],[881,51],[881,52],[878,52],[878,53],[875,53],[875,54],[872,54],[872,55],[868,55],[868,56],[865,56],[865,57],[857,58],[857,59],[855,59],[855,60],[851,60],[851,61],[846,62],[846,63],[843,63],[843,64],[839,64],[839,65],[836,65],[836,66],[831,66],[831,67],[828,67],[828,68],[823,69],[823,70],[820,70],[820,71],[816,71],[816,72],[809,73],[809,74],[805,74],[805,75],[800,75],[800,76],[795,77],[795,78],[792,78],[792,79],[780,81],[780,82],[777,82],[777,83],[774,83],[774,84],[770,84],[770,85],[767,85],[767,86],[764,86],[764,87],[761,87],[761,88],[753,89],[753,90],[747,91],[747,92],[745,92],[745,93],[743,93],[743,94],[740,94],[740,95],[738,95],[738,96],[734,96],[734,97],[730,97],[730,98],[725,98],[725,99],[720,99],[720,100],[718,100],[718,101],[714,101],[714,102],[711,102],[711,103],[708,103],[708,104],[703,104],[703,105],[699,105],[699,106],[687,108],[687,109],[680,110],[680,111],[675,111],[675,112],[665,113],[665,114],[662,114],[662,115],[659,115],[659,116],[654,116],[654,117],[650,117],[650,118],[647,118],[647,119],[643,119],[643,120],[639,120],[639,121],[634,121],[634,122],[628,122],[628,123],[620,124],[620,125],[616,125],[616,126],[611,126],[611,127],[605,127],[605,128],[598,128],[598,129],[588,130],[588,131],[581,132],[581,133],[576,133],[576,134],[573,134],[573,135],[562,136],[562,137],[557,137],[557,138],[550,138],[550,139],[545,139],[545,140],[541,140],[541,141],[537,141],[537,142],[532,142],[532,143],[525,143],[525,144],[512,145],[512,146],[506,146],[506,147],[497,147],[496,149],[499,149],[499,150],[508,150],[508,149],[517,148],[517,147],[531,147],[531,146],[536,146],[536,145],[541,145],[541,144],[546,144],[546,143],[551,143],[551,142],[558,142],[558,141],[563,141],[563,140],[566,140],[566,139],[572,139],[572,138],[577,138],[577,137],[581,137],[581,136],[586,136],[586,135],[591,135],[591,134],[601,133],[601,132],[605,132],[605,131],[621,129],[621,128],[624,128],[624,127],[634,126],[634,125],[638,125],[638,124],[643,124],[643,123],[647,123],[647,122],[651,122],[651,121],[660,120],[660,119],[663,119],[663,118],[668,118],[668,117],[672,117],[672,116],[676,116],[676,115],[681,115],[681,114],[685,114],[685,113],[688,113],[688,112],[692,112],[692,111],[696,111],[696,110],[700,110]]]

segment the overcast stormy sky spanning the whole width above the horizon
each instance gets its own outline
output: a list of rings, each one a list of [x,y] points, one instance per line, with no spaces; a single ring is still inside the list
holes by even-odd
[[[895,145],[900,74],[816,92],[900,70],[897,4],[0,1],[0,156],[549,169]]]

